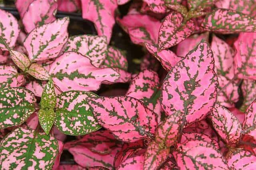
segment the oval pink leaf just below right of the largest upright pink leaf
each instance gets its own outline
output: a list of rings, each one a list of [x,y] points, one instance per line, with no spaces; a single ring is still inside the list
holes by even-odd
[[[228,109],[216,103],[211,113],[211,119],[213,127],[226,143],[236,144],[240,142],[242,126]]]

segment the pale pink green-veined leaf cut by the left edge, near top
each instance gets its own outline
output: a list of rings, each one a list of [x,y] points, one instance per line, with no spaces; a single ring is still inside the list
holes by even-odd
[[[19,34],[20,29],[16,18],[9,12],[0,9],[0,38],[6,43],[0,41],[0,50],[14,47]]]

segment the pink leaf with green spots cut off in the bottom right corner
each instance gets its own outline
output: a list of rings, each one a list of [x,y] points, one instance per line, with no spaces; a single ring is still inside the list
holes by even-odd
[[[227,156],[230,170],[253,170],[256,166],[256,156],[252,152],[238,149]]]

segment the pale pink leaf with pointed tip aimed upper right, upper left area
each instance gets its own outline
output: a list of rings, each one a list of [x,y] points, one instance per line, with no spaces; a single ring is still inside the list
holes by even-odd
[[[36,27],[28,34],[23,45],[30,61],[55,58],[68,40],[69,18],[60,18],[52,23]]]

